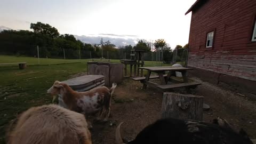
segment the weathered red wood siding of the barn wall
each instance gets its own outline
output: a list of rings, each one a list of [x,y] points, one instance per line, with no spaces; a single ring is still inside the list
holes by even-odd
[[[209,0],[193,11],[188,66],[256,81],[255,18],[256,0]],[[206,48],[213,30],[213,47]]]

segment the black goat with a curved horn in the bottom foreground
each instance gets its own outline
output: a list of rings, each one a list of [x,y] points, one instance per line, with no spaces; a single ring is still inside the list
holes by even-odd
[[[116,129],[116,143],[123,140],[120,123]],[[253,144],[245,131],[235,132],[229,127],[193,120],[160,119],[143,129],[128,143],[161,144]]]

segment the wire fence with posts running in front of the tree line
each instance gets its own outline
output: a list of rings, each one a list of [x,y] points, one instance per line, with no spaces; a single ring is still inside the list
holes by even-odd
[[[57,59],[131,59],[130,51],[116,49],[115,51],[89,51],[74,49],[51,49],[52,47],[36,47],[31,49],[28,56],[38,58]],[[162,66],[164,63],[181,63],[186,66],[188,49],[175,49],[174,51],[150,51],[144,53],[145,61],[154,61],[153,66]],[[16,53],[27,55],[26,53]],[[153,62],[152,62],[153,63]]]

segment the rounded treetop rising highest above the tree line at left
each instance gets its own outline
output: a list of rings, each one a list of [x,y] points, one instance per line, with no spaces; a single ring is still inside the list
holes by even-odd
[[[60,35],[56,28],[50,26],[47,23],[46,24],[42,22],[31,23],[30,29],[33,29],[34,33],[36,34],[49,35],[52,38],[58,37]]]

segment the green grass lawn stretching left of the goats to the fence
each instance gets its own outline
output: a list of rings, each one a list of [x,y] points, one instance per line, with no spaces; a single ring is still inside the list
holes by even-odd
[[[0,143],[4,143],[6,126],[12,119],[32,106],[51,103],[46,90],[55,80],[63,81],[70,75],[87,71],[87,61],[89,59],[40,59],[41,65],[38,65],[36,58],[0,55],[0,63],[27,62],[28,65],[23,70],[18,65],[0,66]],[[60,63],[66,64],[53,65]],[[157,62],[146,61],[145,64],[154,66]],[[159,62],[158,66],[161,66]]]

